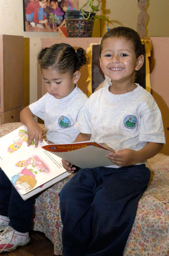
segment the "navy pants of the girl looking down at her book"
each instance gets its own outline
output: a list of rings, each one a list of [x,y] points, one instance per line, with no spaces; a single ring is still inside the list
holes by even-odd
[[[30,231],[34,200],[31,197],[24,201],[0,168],[0,214],[9,217],[12,228],[22,233]]]

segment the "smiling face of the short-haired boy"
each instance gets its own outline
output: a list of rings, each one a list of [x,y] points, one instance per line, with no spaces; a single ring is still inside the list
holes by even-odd
[[[136,58],[131,40],[109,37],[103,41],[100,66],[112,82],[132,82],[134,71],[141,68],[139,58]]]

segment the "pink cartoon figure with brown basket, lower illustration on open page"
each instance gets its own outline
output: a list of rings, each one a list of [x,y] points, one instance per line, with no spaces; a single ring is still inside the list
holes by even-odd
[[[20,192],[29,192],[32,188],[35,187],[36,175],[39,173],[49,173],[49,170],[45,164],[39,160],[39,157],[34,155],[29,157],[26,160],[20,160],[18,163],[15,163],[16,167],[23,167],[21,173],[15,174],[12,176],[12,183],[15,185],[15,188]]]

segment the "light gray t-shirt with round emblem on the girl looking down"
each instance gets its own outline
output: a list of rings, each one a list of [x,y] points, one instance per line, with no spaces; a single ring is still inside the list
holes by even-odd
[[[56,99],[46,93],[38,101],[30,104],[29,108],[34,115],[44,120],[48,141],[58,144],[71,143],[79,134],[74,124],[87,99],[86,94],[76,86],[62,99]]]

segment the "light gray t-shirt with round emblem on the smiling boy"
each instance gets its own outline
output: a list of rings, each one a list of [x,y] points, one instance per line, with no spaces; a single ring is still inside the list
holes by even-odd
[[[91,140],[122,150],[139,150],[147,142],[165,143],[160,109],[153,96],[138,84],[132,92],[115,95],[109,86],[93,93],[78,122],[80,133]]]

